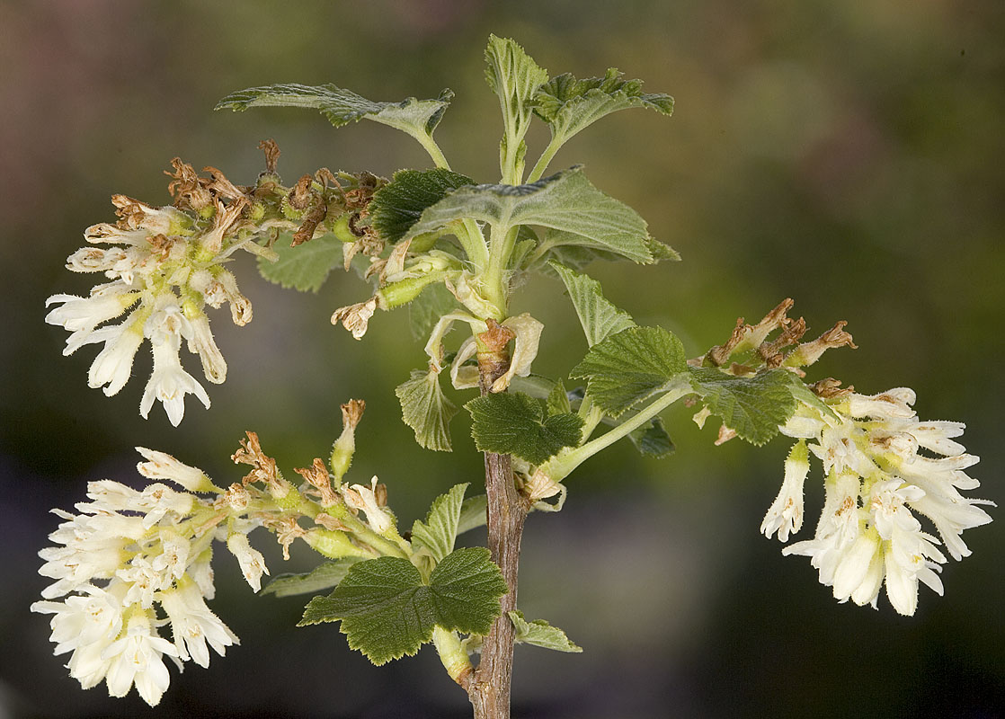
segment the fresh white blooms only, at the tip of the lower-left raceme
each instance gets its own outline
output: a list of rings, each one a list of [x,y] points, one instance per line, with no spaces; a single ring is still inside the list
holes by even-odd
[[[53,510],[65,521],[49,535],[57,546],[39,552],[45,560],[39,573],[55,581],[31,610],[53,615],[54,653],[71,653],[66,666],[84,689],[104,680],[109,694],[122,697],[136,685],[153,706],[170,681],[165,657],[179,669],[188,660],[207,667],[210,648],[222,656],[238,643],[205,602],[214,595],[213,539],[227,540],[256,590],[264,561],[243,533],[256,523],[231,517],[237,512],[225,500],[210,503],[192,493],[220,491],[203,472],[138,449],[147,460],[138,466],[141,474],[190,491],[89,483],[90,501],[76,505],[79,514]],[[158,633],[165,626],[172,641]]]

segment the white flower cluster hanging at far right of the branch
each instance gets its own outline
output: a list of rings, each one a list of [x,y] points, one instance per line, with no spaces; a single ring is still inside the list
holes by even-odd
[[[901,615],[918,608],[918,582],[942,594],[937,573],[946,556],[939,539],[926,532],[917,514],[928,517],[955,559],[970,554],[964,529],[991,517],[960,490],[980,483],[964,471],[978,462],[954,438],[959,422],[921,422],[915,393],[906,388],[865,397],[845,394],[821,413],[807,406],[782,429],[800,439],[785,465],[782,490],[768,510],[761,531],[787,541],[803,518],[803,483],[808,449],[823,463],[825,499],[813,539],[786,547],[784,554],[810,557],[820,581],[835,598],[876,606],[885,584],[890,604]],[[921,450],[927,451],[923,453]]]

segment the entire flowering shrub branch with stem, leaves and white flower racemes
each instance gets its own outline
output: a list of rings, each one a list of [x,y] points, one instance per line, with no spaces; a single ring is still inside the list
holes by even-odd
[[[158,400],[173,425],[183,419],[186,395],[209,407],[202,385],[182,368],[183,339],[206,380],[226,378],[206,305],[229,303],[239,325],[251,319],[251,304],[227,268],[237,250],[256,255],[266,279],[305,291],[321,287],[333,269],[355,268],[371,287],[359,302],[335,309],[333,324],[361,339],[378,310],[409,305],[413,333],[425,344],[418,368],[396,389],[402,419],[419,445],[450,451],[458,403],[444,384],[476,391],[461,404],[485,461],[485,494],[465,498],[467,485],[456,485],[402,532],[376,477],[345,479],[362,401],[342,406],[344,429],[328,459],[288,476],[252,432],[232,457],[247,474],[225,488],[141,449],[142,475],[184,491],[160,482],[143,490],[92,482],[78,514],[55,510],[63,522],[50,535],[55,546],[41,552],[41,573],[55,581],[32,609],[52,615],[55,652],[71,653],[70,676],[82,687],[105,681],[113,696],[123,696],[136,686],[154,705],[170,681],[165,657],[205,667],[209,649],[222,655],[237,643],[206,605],[218,541],[256,592],[315,594],[301,626],[340,623],[349,646],[375,664],[432,644],[475,717],[507,717],[514,644],[581,651],[560,629],[528,621],[518,609],[528,515],[561,510],[575,470],[621,439],[643,455],[670,454],[660,413],[679,401],[698,408],[699,427],[721,420],[717,445],[739,437],[761,446],[779,434],[796,440],[761,524],[768,537],[787,542],[800,531],[811,455],[820,460],[825,501],[816,532],[784,553],[809,556],[841,602],[876,607],[885,586],[896,612],[915,614],[920,582],[942,593],[938,572],[947,558],[940,544],[960,559],[970,553],[962,532],[991,521],[982,508],[990,502],[961,493],[979,486],[965,472],[977,458],[956,441],[963,424],[920,421],[908,389],[864,396],[831,378],[807,380],[826,350],[856,346],[846,322],[803,341],[807,323],[788,316],[794,303],[785,299],[756,324],[740,318],[724,343],[688,360],[672,332],[638,325],[583,272],[599,260],[679,259],[581,167],[546,175],[563,144],[594,122],[632,107],[668,115],[669,95],[642,92],[640,81],[614,68],[603,77],[549,78],[520,45],[495,36],[485,59],[504,118],[496,183],[451,171],[433,140],[449,90],[434,99],[376,102],[332,84],[252,87],[218,108],[309,107],[335,127],[377,122],[414,138],[435,167],[390,180],[322,168],[284,186],[278,148],[265,141],[264,171],[252,185],[237,186],[215,168],[200,175],[176,159],[173,206],[116,195],[118,222],[88,228],[88,245],[69,256],[68,269],[111,281],[87,297],[49,298],[59,306],[46,321],[71,332],[65,353],[104,342],[87,382],[111,396],[149,340],[153,374],[140,412],[146,418]],[[551,141],[525,179],[526,137],[539,121]],[[515,290],[535,275],[562,282],[587,341],[586,354],[562,378],[532,373],[547,327],[510,309]],[[463,329],[460,336],[450,336],[454,328]],[[459,534],[482,524],[487,548],[455,548]],[[274,535],[284,558],[303,543],[322,562],[262,589],[268,570],[249,540],[257,527]]]

